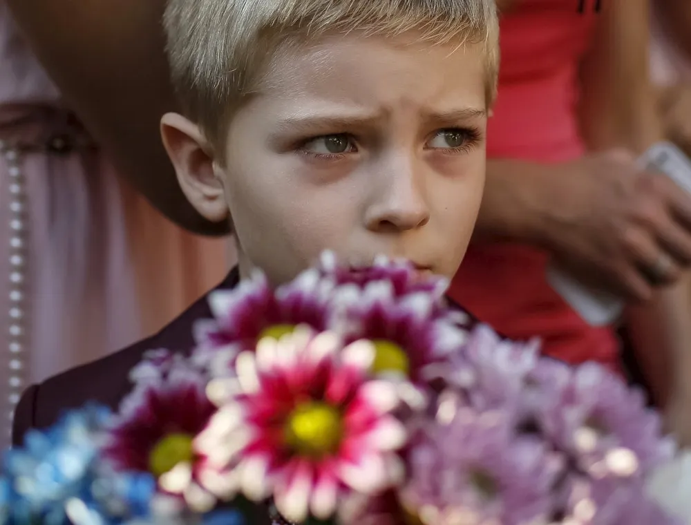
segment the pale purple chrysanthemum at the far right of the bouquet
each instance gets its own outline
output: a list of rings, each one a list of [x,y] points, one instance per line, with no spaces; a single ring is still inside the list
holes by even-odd
[[[639,477],[674,452],[663,438],[659,414],[643,394],[596,363],[585,363],[566,386],[543,399],[540,426],[593,477]]]

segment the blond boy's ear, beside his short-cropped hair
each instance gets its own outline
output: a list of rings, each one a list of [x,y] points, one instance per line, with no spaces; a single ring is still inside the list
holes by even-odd
[[[178,113],[166,113],[161,137],[187,200],[208,220],[227,220],[223,179],[214,169],[213,149],[199,126]]]

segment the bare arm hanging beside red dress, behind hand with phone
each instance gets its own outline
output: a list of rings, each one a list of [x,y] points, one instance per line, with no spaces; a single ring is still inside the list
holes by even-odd
[[[649,4],[611,0],[605,6],[583,67],[583,133],[591,150],[625,146],[641,153],[663,138],[648,70]],[[691,401],[689,282],[687,272],[652,301],[627,312],[636,358],[657,401],[665,406]],[[670,426],[682,434],[691,432],[675,421]]]

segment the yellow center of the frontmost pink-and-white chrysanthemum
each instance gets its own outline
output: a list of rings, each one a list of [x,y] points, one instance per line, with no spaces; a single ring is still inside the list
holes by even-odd
[[[290,414],[284,432],[285,442],[298,454],[322,457],[339,450],[343,418],[327,403],[305,403]]]

